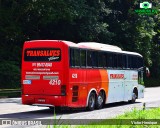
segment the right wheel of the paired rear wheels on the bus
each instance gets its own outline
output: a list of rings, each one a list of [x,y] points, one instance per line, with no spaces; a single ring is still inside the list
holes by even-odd
[[[101,91],[96,99],[96,108],[101,109],[104,103],[104,93]]]

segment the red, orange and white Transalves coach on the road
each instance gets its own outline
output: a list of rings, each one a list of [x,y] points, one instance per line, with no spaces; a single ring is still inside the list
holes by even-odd
[[[26,41],[22,104],[49,108],[135,102],[144,97],[143,56],[97,42]]]

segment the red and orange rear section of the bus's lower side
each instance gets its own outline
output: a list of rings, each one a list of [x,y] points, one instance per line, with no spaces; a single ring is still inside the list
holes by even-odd
[[[70,69],[69,73],[69,107],[86,107],[90,90],[98,92],[103,89],[108,95],[108,75],[106,70],[99,69]],[[76,86],[78,99],[76,100]]]

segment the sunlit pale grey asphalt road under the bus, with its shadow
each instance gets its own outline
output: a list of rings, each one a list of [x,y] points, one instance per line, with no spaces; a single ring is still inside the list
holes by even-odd
[[[59,119],[107,119],[116,117],[134,108],[142,109],[143,103],[146,109],[160,107],[160,87],[146,88],[145,98],[138,99],[136,103],[127,102],[107,104],[103,109],[87,111],[85,109],[57,111],[56,118]],[[6,119],[53,119],[54,112],[46,107],[22,105],[21,98],[0,99],[0,118]]]

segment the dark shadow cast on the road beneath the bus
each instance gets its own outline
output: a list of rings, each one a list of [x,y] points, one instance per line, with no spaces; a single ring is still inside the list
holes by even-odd
[[[140,102],[136,102],[135,104],[137,103],[140,103]],[[111,103],[111,104],[106,104],[100,110],[94,110],[94,111],[102,111],[103,109],[125,106],[125,105],[130,105],[130,104],[128,102]],[[56,110],[56,116],[59,116],[59,115],[62,116],[62,115],[68,115],[68,114],[74,114],[74,113],[85,113],[85,112],[89,112],[89,111],[87,111],[86,108],[64,109],[61,111]],[[17,112],[17,113],[0,115],[0,118],[18,118],[18,119],[29,119],[29,118],[36,119],[36,118],[53,118],[53,117],[54,117],[54,110],[51,110],[48,108],[42,109],[42,110]]]

